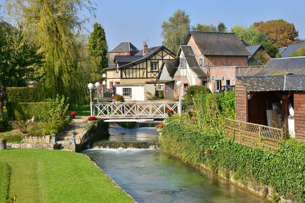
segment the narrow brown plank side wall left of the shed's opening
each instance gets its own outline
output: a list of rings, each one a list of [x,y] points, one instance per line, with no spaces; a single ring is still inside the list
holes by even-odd
[[[236,99],[236,120],[248,121],[248,92],[245,86],[236,79],[235,99]]]

